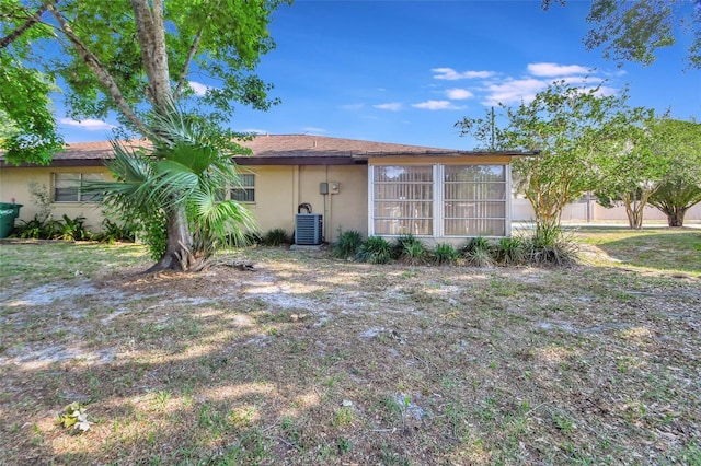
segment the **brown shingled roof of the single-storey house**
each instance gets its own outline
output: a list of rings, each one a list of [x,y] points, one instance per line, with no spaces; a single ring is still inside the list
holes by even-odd
[[[237,163],[242,165],[366,164],[369,156],[524,155],[522,152],[516,151],[460,151],[311,135],[257,135],[250,141],[240,141],[239,143],[252,151],[251,155],[234,158]],[[146,147],[148,141],[135,140],[129,144]],[[102,165],[105,160],[113,156],[110,141],[77,142],[69,144],[64,152],[55,154],[50,166]],[[12,165],[0,159],[0,167],[7,166]]]

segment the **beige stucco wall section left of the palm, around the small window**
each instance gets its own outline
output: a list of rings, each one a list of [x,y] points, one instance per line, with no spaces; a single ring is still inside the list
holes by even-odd
[[[33,202],[30,194],[30,180],[44,185],[51,191],[53,173],[102,173],[105,179],[110,178],[106,168],[102,166],[84,167],[4,167],[0,168],[0,202],[10,202],[12,198],[21,203],[19,220],[28,221],[38,213],[38,206]],[[53,202],[53,217],[62,218],[64,214],[71,219],[85,218],[85,226],[96,231],[102,222],[102,207],[91,202]]]

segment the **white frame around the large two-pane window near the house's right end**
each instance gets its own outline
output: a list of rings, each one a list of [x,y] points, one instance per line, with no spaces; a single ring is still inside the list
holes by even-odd
[[[390,165],[390,164],[388,164]],[[392,164],[392,166],[433,166],[433,235],[416,235],[421,237],[433,237],[433,238],[467,238],[473,237],[471,235],[450,235],[445,236],[445,215],[444,215],[444,197],[445,197],[445,167],[448,164],[444,163],[430,163],[430,164]],[[512,235],[512,166],[509,163],[496,162],[496,163],[452,163],[450,166],[464,166],[464,165],[501,165],[504,167],[504,177],[505,177],[505,198],[504,201],[504,234],[505,236]],[[376,235],[375,232],[375,170],[378,166],[387,166],[382,165],[368,165],[368,235]],[[494,200],[497,201],[497,200]],[[397,237],[399,234],[381,234],[381,236],[388,237]],[[502,236],[494,236],[502,237]]]

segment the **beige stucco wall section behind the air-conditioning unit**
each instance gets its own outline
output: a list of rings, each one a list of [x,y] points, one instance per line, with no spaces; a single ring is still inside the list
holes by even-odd
[[[367,166],[301,165],[248,166],[255,177],[255,202],[249,205],[263,233],[283,228],[295,231],[300,203],[323,215],[324,237],[335,241],[338,228],[367,231]],[[320,194],[321,183],[338,183],[338,194]]]

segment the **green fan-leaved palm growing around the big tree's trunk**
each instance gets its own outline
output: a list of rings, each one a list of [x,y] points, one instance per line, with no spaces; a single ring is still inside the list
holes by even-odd
[[[158,261],[149,271],[198,271],[221,247],[245,243],[257,230],[245,206],[222,200],[238,185],[232,144],[195,117],[172,108],[152,116],[139,148],[113,140],[107,163],[115,182],[90,182],[108,211],[139,225]],[[245,149],[234,144],[238,152]]]

